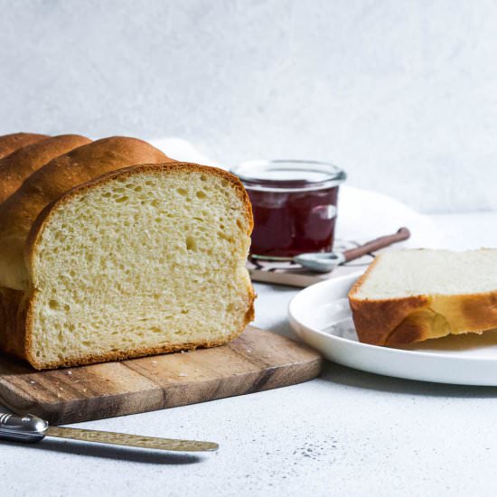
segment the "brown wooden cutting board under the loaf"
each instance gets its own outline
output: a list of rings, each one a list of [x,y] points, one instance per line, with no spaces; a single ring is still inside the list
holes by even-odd
[[[315,378],[322,358],[248,326],[228,345],[80,368],[36,371],[0,356],[0,404],[52,424],[174,408]]]

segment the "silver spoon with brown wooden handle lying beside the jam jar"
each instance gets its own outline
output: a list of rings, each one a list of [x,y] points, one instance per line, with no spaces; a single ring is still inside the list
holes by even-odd
[[[252,255],[251,258],[257,260],[267,260],[273,262],[289,262],[293,261],[302,267],[307,267],[318,273],[329,273],[334,267],[340,266],[345,262],[350,262],[356,258],[361,258],[374,252],[380,250],[380,248],[389,247],[393,243],[398,243],[399,241],[404,241],[410,237],[410,231],[407,228],[400,228],[393,235],[386,235],[378,239],[372,239],[360,245],[359,247],[349,248],[348,250],[343,250],[342,252],[313,252],[310,254],[300,254],[294,258],[278,258],[274,256],[258,256]]]

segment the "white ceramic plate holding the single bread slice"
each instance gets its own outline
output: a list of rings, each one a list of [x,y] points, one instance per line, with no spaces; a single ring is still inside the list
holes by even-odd
[[[497,386],[497,330],[428,340],[405,349],[358,342],[347,293],[359,275],[308,286],[290,302],[295,333],[330,361],[408,380]]]

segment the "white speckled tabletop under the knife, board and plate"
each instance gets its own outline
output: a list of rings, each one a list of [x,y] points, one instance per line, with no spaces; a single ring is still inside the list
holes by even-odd
[[[497,212],[432,216],[451,248],[497,246]],[[293,336],[296,294],[257,285],[259,327]],[[497,389],[326,363],[321,378],[79,427],[220,443],[192,456],[44,440],[0,443],[0,495],[470,495],[497,492]]]

